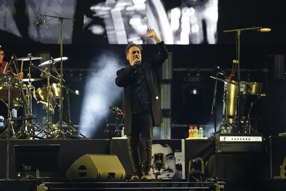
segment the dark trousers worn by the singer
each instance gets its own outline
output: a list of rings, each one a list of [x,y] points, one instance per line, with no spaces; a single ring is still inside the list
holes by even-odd
[[[148,172],[151,168],[153,116],[147,111],[132,114],[131,135],[127,135],[129,156],[133,170]],[[141,141],[139,144],[139,135]],[[140,150],[140,152],[139,152]]]

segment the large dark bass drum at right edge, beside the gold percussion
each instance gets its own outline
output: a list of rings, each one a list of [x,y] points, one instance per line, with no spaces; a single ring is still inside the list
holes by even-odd
[[[251,127],[264,137],[286,132],[286,96],[264,96],[251,106]]]

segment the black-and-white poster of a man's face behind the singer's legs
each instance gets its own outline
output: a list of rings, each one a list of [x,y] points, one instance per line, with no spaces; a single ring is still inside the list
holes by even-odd
[[[184,146],[183,146],[184,147]],[[182,149],[182,140],[153,140],[152,144],[152,164],[155,153],[164,153],[166,156],[166,168],[161,169],[158,178],[185,178],[185,152]],[[158,170],[155,170],[158,172]],[[150,169],[152,178],[152,169]]]

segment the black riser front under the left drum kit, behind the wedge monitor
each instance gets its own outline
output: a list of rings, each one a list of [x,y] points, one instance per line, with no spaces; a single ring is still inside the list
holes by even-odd
[[[10,140],[9,178],[17,177],[15,171],[14,145],[60,144],[60,168],[56,172],[40,172],[42,177],[66,178],[66,171],[71,164],[85,154],[110,154],[108,139],[86,140]],[[0,179],[6,178],[7,140],[0,140]],[[40,160],[40,159],[39,159]],[[35,172],[28,172],[35,176]]]

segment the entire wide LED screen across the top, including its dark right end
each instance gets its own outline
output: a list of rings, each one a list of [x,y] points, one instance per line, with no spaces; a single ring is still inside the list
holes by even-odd
[[[166,44],[234,44],[234,33],[223,30],[268,27],[267,38],[245,32],[242,43],[283,44],[286,19],[283,0],[0,0],[1,44],[60,42],[64,44],[154,43],[144,37],[147,27]],[[255,34],[253,34],[255,33]]]

